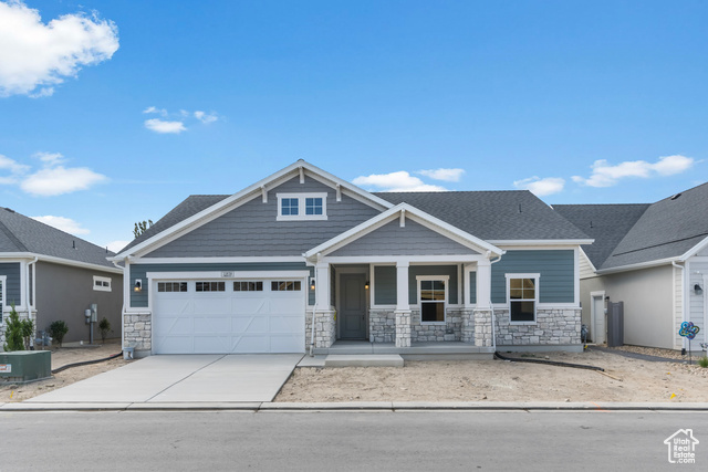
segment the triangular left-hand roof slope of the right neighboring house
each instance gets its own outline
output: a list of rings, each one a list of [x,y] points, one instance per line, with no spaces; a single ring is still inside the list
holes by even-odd
[[[593,238],[583,251],[598,269],[612,254],[649,203],[629,204],[554,204],[553,209]]]

